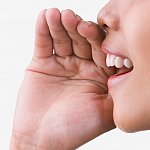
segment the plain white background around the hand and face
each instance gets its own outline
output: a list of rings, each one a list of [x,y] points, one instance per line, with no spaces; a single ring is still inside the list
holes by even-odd
[[[50,7],[70,8],[83,19],[96,21],[104,3],[106,0],[0,1],[0,150],[9,149],[17,92],[33,53],[34,27],[39,11]],[[78,150],[100,149],[150,150],[150,133],[127,134],[115,129]]]

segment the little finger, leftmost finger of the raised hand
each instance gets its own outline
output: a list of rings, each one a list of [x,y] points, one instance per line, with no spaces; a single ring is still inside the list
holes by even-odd
[[[45,58],[52,55],[52,38],[45,18],[46,10],[42,10],[37,18],[35,29],[34,57]]]

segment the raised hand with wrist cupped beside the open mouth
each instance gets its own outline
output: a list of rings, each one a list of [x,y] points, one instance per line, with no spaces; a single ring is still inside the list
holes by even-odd
[[[40,13],[11,149],[75,149],[115,127],[107,88],[113,72],[100,52],[103,36],[96,24],[81,21],[71,10]]]

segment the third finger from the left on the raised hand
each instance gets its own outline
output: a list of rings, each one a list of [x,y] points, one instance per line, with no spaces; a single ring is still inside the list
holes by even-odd
[[[81,18],[72,10],[65,10],[61,13],[62,24],[72,40],[73,52],[76,56],[84,59],[92,58],[91,45],[77,31],[77,24]]]

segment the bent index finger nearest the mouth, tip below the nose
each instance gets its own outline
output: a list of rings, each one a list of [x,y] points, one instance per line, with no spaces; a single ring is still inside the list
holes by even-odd
[[[101,44],[105,38],[105,32],[93,22],[81,21],[77,27],[78,32],[89,41],[92,46],[92,57],[98,67],[105,69],[110,76],[115,72],[115,68],[106,66],[106,54],[101,51]]]

